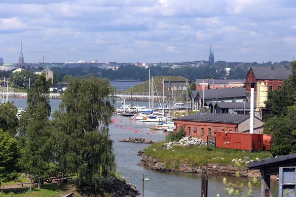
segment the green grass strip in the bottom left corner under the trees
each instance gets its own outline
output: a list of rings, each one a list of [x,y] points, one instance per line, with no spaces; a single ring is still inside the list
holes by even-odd
[[[41,185],[32,188],[2,189],[0,197],[59,197],[67,194],[65,184]]]

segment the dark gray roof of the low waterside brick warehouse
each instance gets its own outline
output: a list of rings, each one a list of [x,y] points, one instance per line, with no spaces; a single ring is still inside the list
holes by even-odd
[[[243,114],[196,113],[175,120],[239,124],[248,118],[249,115]]]

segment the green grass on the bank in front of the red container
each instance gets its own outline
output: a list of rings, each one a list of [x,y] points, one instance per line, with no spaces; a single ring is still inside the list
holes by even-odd
[[[151,144],[145,151],[145,155],[158,159],[158,162],[165,163],[166,167],[178,168],[180,164],[197,166],[204,164],[230,165],[232,159],[244,159],[244,156],[251,160],[256,158],[268,158],[272,155],[268,151],[248,152],[234,149],[209,148],[208,146],[173,146],[172,149],[163,148],[165,141]],[[153,149],[156,149],[153,151]],[[174,151],[173,151],[174,150]],[[223,160],[217,159],[224,158]],[[216,158],[216,159],[213,159]]]

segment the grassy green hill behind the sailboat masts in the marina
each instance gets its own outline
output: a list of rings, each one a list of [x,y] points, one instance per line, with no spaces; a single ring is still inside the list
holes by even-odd
[[[169,78],[170,78],[170,81],[186,81],[186,78],[180,77],[180,76],[155,76],[155,77],[153,77],[153,81],[155,83],[158,93],[162,93],[162,79],[163,78],[164,78],[164,81],[168,81]],[[156,93],[154,83],[153,83],[153,87],[154,87],[154,92]],[[149,92],[149,80],[133,87],[132,91],[133,92]],[[123,92],[131,92],[131,89],[128,89]],[[168,84],[164,84],[164,92],[168,93]]]

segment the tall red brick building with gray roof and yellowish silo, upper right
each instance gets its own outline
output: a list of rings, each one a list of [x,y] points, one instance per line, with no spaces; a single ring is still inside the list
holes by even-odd
[[[285,67],[251,67],[246,77],[246,96],[250,100],[251,82],[255,82],[255,101],[259,95],[258,87],[264,86],[266,91],[280,89],[282,83],[292,74],[289,66]],[[263,88],[261,88],[263,89]],[[267,98],[266,98],[267,99]],[[263,102],[262,100],[257,102]]]

